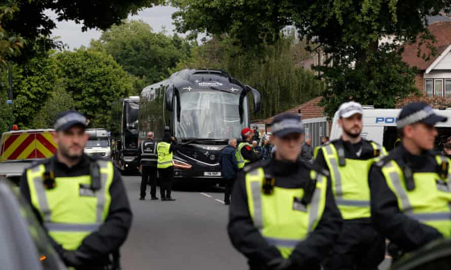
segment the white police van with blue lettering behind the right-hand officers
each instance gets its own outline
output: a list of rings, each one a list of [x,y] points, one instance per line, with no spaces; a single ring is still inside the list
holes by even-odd
[[[362,138],[374,141],[383,145],[388,151],[395,147],[398,139],[396,127],[397,117],[401,109],[374,109],[373,106],[362,106],[363,108],[363,129]],[[435,110],[439,115],[448,117],[447,122],[439,122],[436,125],[438,136],[435,141],[436,150],[442,150],[443,144],[448,137],[451,137],[451,108]],[[338,124],[339,115],[335,113],[330,130],[330,139],[340,139],[342,128]]]

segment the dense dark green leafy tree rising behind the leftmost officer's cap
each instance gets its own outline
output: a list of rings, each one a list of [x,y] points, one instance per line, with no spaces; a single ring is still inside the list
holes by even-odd
[[[129,95],[133,78],[105,52],[80,49],[55,57],[73,107],[90,119],[91,126],[108,127],[111,102]]]

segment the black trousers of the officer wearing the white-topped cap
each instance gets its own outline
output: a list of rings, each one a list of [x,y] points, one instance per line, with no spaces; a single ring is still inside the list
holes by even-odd
[[[385,238],[369,219],[343,221],[342,232],[325,261],[326,270],[377,270],[385,258]]]

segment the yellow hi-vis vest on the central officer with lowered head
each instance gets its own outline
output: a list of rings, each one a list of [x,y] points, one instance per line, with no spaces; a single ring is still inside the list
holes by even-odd
[[[303,209],[293,210],[295,198],[304,196],[304,189],[274,187],[273,194],[262,192],[265,172],[259,167],[246,173],[246,193],[254,226],[266,241],[277,247],[288,258],[295,246],[313,232],[321,219],[326,204],[327,178],[311,171],[316,178],[312,201]],[[309,179],[310,180],[310,179]]]

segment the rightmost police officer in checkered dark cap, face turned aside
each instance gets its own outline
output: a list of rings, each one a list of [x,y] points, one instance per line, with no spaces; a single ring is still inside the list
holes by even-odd
[[[451,237],[449,159],[431,151],[434,125],[446,120],[426,103],[407,104],[397,121],[401,145],[371,167],[371,217],[395,259]]]

